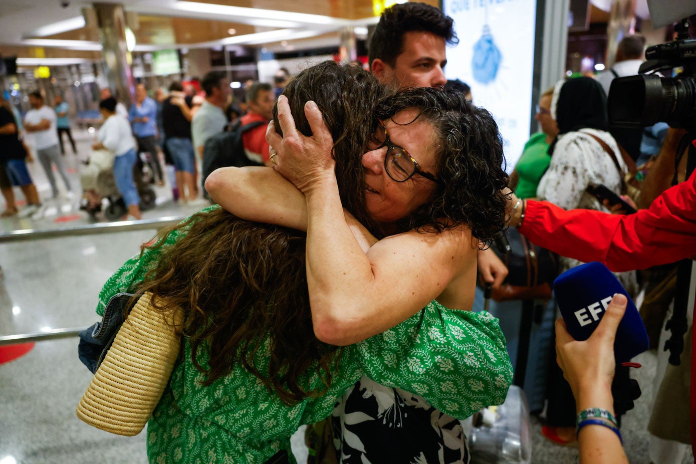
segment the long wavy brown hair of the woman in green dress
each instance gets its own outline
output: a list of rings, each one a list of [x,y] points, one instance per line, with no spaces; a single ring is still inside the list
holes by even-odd
[[[304,104],[312,99],[322,110],[335,141],[343,205],[382,237],[365,211],[361,157],[375,127],[374,104],[387,90],[360,68],[325,62],[301,72],[283,93],[305,135],[311,131]],[[166,246],[175,230],[184,236]],[[241,363],[288,404],[326,391],[341,351],[319,342],[313,332],[305,234],[215,209],[194,214],[158,237],[150,248],[161,257],[138,291],[152,291],[159,310],[183,308],[182,334],[189,339],[193,364],[205,373],[204,385]],[[265,365],[259,360],[267,349]],[[209,354],[207,362],[200,361],[202,351]],[[314,389],[300,381],[313,366],[323,383]]]

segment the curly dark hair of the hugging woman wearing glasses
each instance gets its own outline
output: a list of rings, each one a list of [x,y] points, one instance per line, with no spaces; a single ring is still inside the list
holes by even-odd
[[[459,90],[441,88],[402,89],[379,102],[375,115],[386,120],[405,109],[419,109],[417,118],[436,130],[436,173],[442,183],[427,203],[399,221],[400,229],[441,232],[466,223],[474,237],[491,243],[505,227],[501,191],[509,181],[493,116]]]

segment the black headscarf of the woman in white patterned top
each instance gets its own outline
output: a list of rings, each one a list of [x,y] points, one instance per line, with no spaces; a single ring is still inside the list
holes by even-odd
[[[557,83],[551,108],[558,124],[558,136],[579,129],[609,129],[607,97],[599,82],[591,77]],[[558,136],[548,147],[548,154],[553,154]]]

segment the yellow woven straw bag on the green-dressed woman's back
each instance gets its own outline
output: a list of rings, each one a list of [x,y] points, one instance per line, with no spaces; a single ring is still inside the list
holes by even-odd
[[[131,437],[143,430],[159,403],[179,356],[183,313],[164,314],[143,294],[77,405],[77,417],[107,432]]]

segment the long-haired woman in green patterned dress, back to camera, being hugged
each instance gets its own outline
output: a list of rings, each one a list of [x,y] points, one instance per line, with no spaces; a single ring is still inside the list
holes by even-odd
[[[341,198],[373,234],[349,213],[347,221],[356,237],[370,243],[383,232],[360,206],[365,184],[356,176],[356,155],[377,125],[374,102],[396,108],[395,101],[381,98],[383,92],[370,74],[332,63],[306,70],[285,90],[296,114],[309,97],[324,109]],[[412,90],[406,97],[446,103],[444,93],[438,101],[433,92],[439,90]],[[452,113],[478,131],[484,130],[481,119],[492,122],[488,113],[469,111],[459,105]],[[298,125],[310,134],[306,120]],[[480,170],[471,175],[481,177]],[[497,189],[503,176],[493,173],[485,182]],[[503,198],[484,199],[480,216],[471,219],[484,240],[502,226],[496,221],[498,200]],[[489,224],[477,223],[483,219]],[[421,219],[417,225],[428,223]],[[421,394],[457,417],[505,399],[512,369],[497,321],[487,313],[420,303],[421,309],[393,317],[389,326],[375,321],[383,328],[372,337],[352,332],[355,343],[344,348],[320,341],[326,334],[317,327],[322,321],[317,323],[307,291],[304,244],[299,232],[248,223],[211,207],[165,232],[106,282],[97,312],[119,291],[137,289],[152,291],[161,309],[177,305],[186,314],[182,359],[148,423],[151,462],[263,463],[289,451],[297,426],[329,415],[335,400],[363,374]],[[424,271],[429,272],[413,269],[414,275]]]

